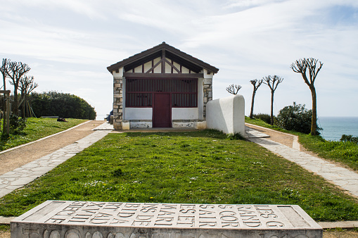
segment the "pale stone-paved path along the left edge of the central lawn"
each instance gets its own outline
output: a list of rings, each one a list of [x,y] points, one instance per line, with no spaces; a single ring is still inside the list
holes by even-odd
[[[5,173],[4,175],[0,175],[0,197],[25,186],[25,184],[32,182],[37,177],[56,168],[56,166],[105,137],[109,132],[110,130],[96,130],[73,144],[58,149],[36,161],[27,163],[20,168],[15,168],[15,170]]]

